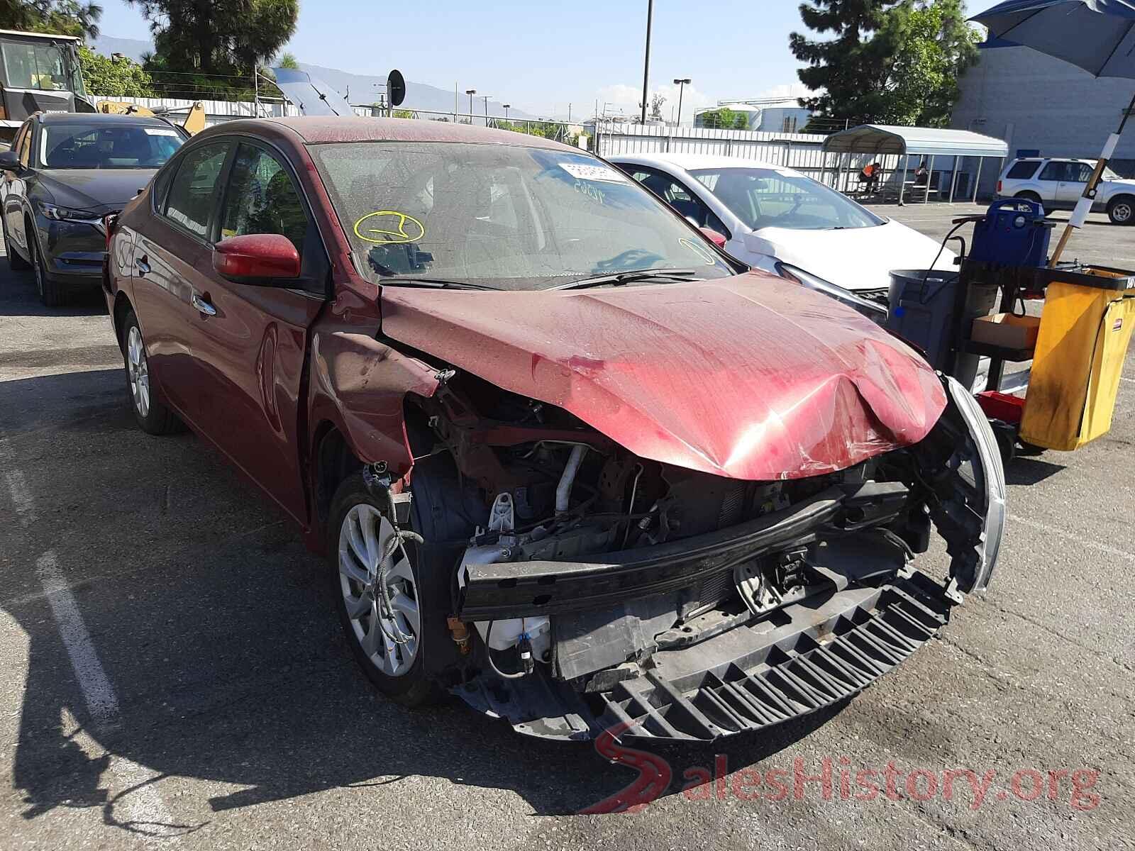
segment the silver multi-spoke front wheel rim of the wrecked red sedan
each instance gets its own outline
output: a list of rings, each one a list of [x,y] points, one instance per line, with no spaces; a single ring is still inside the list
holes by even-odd
[[[406,674],[421,634],[418,588],[394,528],[373,505],[355,505],[343,519],[338,559],[339,591],[359,649],[385,676]]]

